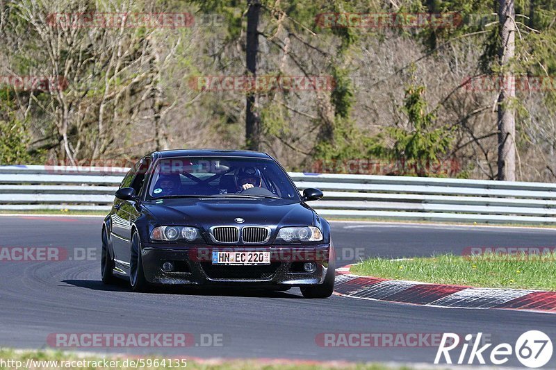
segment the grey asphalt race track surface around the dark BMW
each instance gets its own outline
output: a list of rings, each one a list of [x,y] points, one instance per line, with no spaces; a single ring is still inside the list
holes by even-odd
[[[461,253],[468,246],[555,246],[556,229],[332,223],[338,265],[358,256],[392,258]],[[59,246],[93,253],[85,260],[0,261],[0,346],[49,348],[51,333],[192,333],[188,348],[77,348],[80,351],[169,354],[186,358],[432,363],[436,347],[331,348],[319,333],[485,333],[514,344],[543,330],[556,344],[554,314],[419,307],[341,296],[326,300],[290,292],[165,291],[136,294],[106,287],[99,275],[101,218],[0,217],[0,246]],[[92,252],[91,252],[92,251]],[[78,253],[79,254],[79,253]],[[201,335],[222,336],[202,346]],[[64,348],[61,348],[64,349]],[[459,352],[455,354],[455,357]],[[556,355],[546,368],[556,368]],[[477,362],[475,362],[476,364]],[[511,360],[509,364],[519,364]]]

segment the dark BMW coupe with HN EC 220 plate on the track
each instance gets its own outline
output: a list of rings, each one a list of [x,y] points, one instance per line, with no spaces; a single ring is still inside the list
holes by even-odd
[[[328,222],[266,153],[173,150],[126,174],[102,226],[102,281],[238,286],[326,298],[334,289]]]

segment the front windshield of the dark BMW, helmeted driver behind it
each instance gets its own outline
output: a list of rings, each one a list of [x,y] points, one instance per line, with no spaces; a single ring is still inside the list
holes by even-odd
[[[271,159],[179,157],[158,160],[147,198],[188,196],[299,199],[284,170]]]

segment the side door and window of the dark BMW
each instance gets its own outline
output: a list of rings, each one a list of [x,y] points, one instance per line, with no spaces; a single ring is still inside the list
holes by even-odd
[[[122,183],[120,183],[120,189],[122,187],[130,187],[135,178],[138,169],[140,167],[141,161],[136,162],[133,167],[128,171]],[[112,230],[111,230],[111,242],[114,251],[114,259],[118,266],[122,263],[129,263],[129,256],[126,257],[125,251],[129,249],[129,206],[126,201],[122,199],[114,199],[111,212]],[[120,266],[121,267],[121,266]],[[127,267],[125,264],[123,267]]]

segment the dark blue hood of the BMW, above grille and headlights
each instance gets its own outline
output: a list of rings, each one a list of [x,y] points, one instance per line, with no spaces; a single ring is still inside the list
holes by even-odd
[[[197,199],[179,198],[143,203],[152,221],[159,225],[188,225],[208,228],[215,225],[302,226],[313,225],[314,212],[304,203],[284,199]]]

